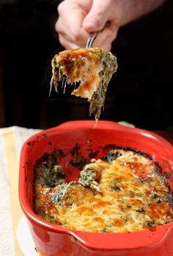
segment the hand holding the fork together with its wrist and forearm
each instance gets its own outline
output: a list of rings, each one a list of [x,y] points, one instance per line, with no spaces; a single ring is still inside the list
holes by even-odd
[[[120,26],[145,15],[164,0],[65,0],[58,6],[56,31],[67,49],[85,47],[90,32],[99,32],[93,46],[109,51]]]

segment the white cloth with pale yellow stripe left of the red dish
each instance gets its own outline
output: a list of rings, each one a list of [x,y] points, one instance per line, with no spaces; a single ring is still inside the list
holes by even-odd
[[[0,255],[22,256],[16,230],[23,215],[18,200],[19,158],[23,142],[38,130],[0,128]]]

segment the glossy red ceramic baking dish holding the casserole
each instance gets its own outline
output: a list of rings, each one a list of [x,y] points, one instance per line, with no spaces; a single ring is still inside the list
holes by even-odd
[[[55,149],[70,150],[78,143],[81,154],[87,156],[99,150],[102,156],[106,145],[133,147],[155,156],[173,189],[173,147],[161,136],[138,128],[128,128],[116,122],[99,121],[65,122],[55,128],[41,131],[30,137],[21,150],[19,199],[29,224],[34,244],[42,256],[172,256],[173,222],[155,230],[133,233],[89,233],[69,230],[40,219],[33,211],[34,164],[43,153]],[[78,172],[71,167],[70,157],[62,160],[67,181],[75,180]]]

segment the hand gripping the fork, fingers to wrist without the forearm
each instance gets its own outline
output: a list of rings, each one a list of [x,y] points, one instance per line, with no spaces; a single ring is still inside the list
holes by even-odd
[[[116,0],[65,0],[59,4],[56,31],[65,48],[85,47],[90,32],[101,32],[93,46],[111,49],[117,37],[121,8]]]

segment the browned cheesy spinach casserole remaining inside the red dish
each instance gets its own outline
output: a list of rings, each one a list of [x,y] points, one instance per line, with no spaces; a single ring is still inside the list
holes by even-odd
[[[53,154],[34,168],[34,211],[73,230],[99,233],[155,229],[173,221],[172,193],[147,153],[117,147],[92,159],[77,181],[65,182]]]

